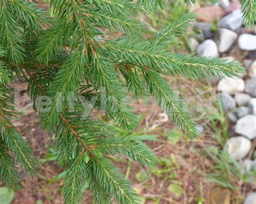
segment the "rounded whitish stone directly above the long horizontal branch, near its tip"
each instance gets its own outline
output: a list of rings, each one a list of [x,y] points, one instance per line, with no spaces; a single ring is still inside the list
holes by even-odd
[[[205,57],[219,57],[217,44],[211,39],[207,39],[201,43],[197,47],[197,53]]]

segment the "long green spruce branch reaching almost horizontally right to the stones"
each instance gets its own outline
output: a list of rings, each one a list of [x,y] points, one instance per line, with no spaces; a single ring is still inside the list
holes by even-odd
[[[146,44],[131,46],[128,42],[121,40],[115,44],[106,43],[105,46],[109,55],[114,59],[122,56],[125,59],[123,62],[125,64],[147,66],[159,73],[168,71],[174,76],[211,78],[211,74],[213,74],[215,77],[230,77],[244,72],[239,63],[227,62],[224,59],[158,52]]]

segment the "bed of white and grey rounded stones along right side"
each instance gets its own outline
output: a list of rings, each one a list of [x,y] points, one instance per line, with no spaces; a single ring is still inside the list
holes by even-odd
[[[249,169],[256,171],[254,145],[256,144],[256,25],[254,30],[243,28],[239,2],[230,3],[228,0],[221,0],[215,8],[210,7],[211,10],[218,11],[215,12],[216,15],[205,15],[207,19],[204,19],[204,22],[195,24],[197,29],[204,32],[205,40],[199,36],[198,39],[202,42],[198,43],[193,38],[191,45],[200,56],[239,59],[246,67],[246,74],[241,75],[241,78],[220,80],[217,90],[223,110],[233,124],[232,133],[224,148],[232,159],[245,165],[245,171]],[[200,9],[200,12],[204,13],[208,10]],[[216,21],[218,18],[220,19],[218,28],[213,31],[209,22]],[[244,204],[256,204],[256,192],[248,194]]]

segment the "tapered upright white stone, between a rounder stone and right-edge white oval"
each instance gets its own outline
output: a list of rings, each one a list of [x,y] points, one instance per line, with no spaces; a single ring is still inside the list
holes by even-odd
[[[226,52],[234,44],[237,39],[237,33],[228,29],[220,29],[219,52]]]

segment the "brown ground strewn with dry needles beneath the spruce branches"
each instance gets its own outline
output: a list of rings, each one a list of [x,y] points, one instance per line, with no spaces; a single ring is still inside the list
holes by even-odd
[[[177,90],[183,92],[187,90],[188,103],[194,92],[200,88],[200,83],[195,81],[186,81],[182,78],[167,78],[170,84],[176,84]],[[191,85],[193,85],[191,88]],[[21,93],[26,89],[26,84],[19,84]],[[190,96],[190,97],[189,97]],[[23,94],[26,99],[26,93]],[[204,100],[203,98],[198,99]],[[38,116],[24,101],[21,103],[21,111],[25,114],[23,120],[15,121],[15,125],[19,130],[24,128],[24,125],[33,124],[38,121]],[[163,162],[158,165],[156,171],[160,173],[152,173],[149,169],[140,164],[132,163],[129,167],[129,162],[125,158],[112,158],[113,163],[116,164],[122,172],[127,173],[129,168],[129,179],[133,182],[134,189],[136,189],[139,196],[145,199],[144,203],[209,203],[211,189],[216,185],[209,182],[207,175],[211,173],[211,166],[213,161],[200,153],[202,149],[211,147],[220,147],[211,135],[211,130],[205,129],[199,139],[190,140],[183,135],[177,142],[169,141],[164,135],[170,131],[175,130],[172,122],[167,119],[163,112],[157,107],[153,99],[145,105],[144,103],[134,103],[134,108],[138,115],[142,115],[143,119],[139,125],[138,130],[134,132],[141,132],[140,134],[158,135],[156,141],[145,141],[156,156],[160,159],[166,158],[170,160],[172,165],[168,166]],[[62,179],[52,181],[58,176],[63,169],[58,169],[56,161],[51,159],[51,144],[52,139],[40,127],[32,128],[25,138],[34,148],[34,153],[38,161],[45,160],[38,168],[36,176],[25,175],[22,171],[24,183],[20,191],[15,192],[15,199],[12,203],[64,203],[61,194]],[[148,178],[143,181],[138,181],[136,175],[139,172],[149,172]],[[238,183],[234,180],[233,185],[241,186],[241,192],[232,192],[232,203],[238,203],[236,199],[239,196],[245,195],[251,188],[244,183]],[[178,183],[183,188],[182,195],[176,195],[169,191],[171,183]],[[159,201],[157,201],[159,199]],[[199,202],[201,201],[201,202]],[[92,196],[89,191],[85,191],[83,203],[92,203]]]

